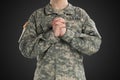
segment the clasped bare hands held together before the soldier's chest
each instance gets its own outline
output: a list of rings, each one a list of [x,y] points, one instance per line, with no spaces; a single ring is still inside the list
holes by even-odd
[[[56,37],[63,36],[66,32],[65,20],[61,17],[57,17],[52,21],[52,27]]]

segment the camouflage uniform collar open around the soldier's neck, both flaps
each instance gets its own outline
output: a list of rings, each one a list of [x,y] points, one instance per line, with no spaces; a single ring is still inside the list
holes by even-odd
[[[61,10],[64,14],[74,14],[74,7],[69,3],[68,6],[66,8],[64,8],[63,10]],[[50,4],[48,4],[46,7],[45,7],[45,13],[47,15],[49,14],[53,14],[53,13],[56,13],[56,14],[59,14],[58,12],[55,12],[52,8],[52,6]]]

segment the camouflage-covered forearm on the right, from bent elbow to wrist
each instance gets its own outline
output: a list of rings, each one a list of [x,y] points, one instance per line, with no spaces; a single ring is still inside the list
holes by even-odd
[[[72,29],[67,29],[64,36],[61,37],[64,41],[71,45],[80,53],[91,55],[96,53],[101,45],[101,38],[97,35],[91,36],[85,33],[77,33]]]

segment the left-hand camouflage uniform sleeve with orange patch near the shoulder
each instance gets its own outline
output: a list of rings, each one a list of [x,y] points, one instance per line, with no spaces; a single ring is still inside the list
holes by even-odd
[[[30,16],[26,28],[23,29],[23,33],[18,41],[19,50],[22,55],[27,58],[35,58],[37,55],[42,56],[47,51],[51,43],[47,41],[42,34],[36,33],[35,24],[35,12]]]

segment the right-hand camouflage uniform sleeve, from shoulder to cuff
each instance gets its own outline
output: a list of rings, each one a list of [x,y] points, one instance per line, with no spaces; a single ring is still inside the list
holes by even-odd
[[[78,52],[92,55],[96,53],[101,45],[101,36],[98,33],[94,21],[82,10],[82,32],[67,29],[62,39],[68,42]]]

